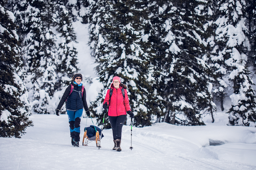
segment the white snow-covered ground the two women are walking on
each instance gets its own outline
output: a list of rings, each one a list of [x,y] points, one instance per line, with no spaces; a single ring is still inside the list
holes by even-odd
[[[143,128],[132,126],[132,131],[128,118],[122,130],[121,152],[112,150],[111,129],[103,130],[100,149],[94,141],[82,145],[84,128],[93,125],[92,120],[96,125],[95,118],[81,119],[79,147],[71,145],[67,115],[31,115],[29,119],[34,126],[20,139],[0,138],[0,169],[256,169],[256,128],[227,126],[224,113],[217,113],[214,123],[209,115],[204,117],[206,126],[162,122]]]

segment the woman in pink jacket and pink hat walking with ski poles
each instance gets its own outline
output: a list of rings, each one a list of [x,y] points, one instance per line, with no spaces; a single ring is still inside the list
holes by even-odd
[[[108,118],[113,131],[113,138],[115,146],[113,150],[122,151],[121,136],[122,136],[122,127],[126,119],[126,112],[130,117],[134,118],[134,114],[131,111],[129,99],[127,95],[127,87],[121,83],[119,77],[115,76],[113,78],[113,83],[110,88],[113,90],[111,98],[109,95],[110,89],[106,94],[103,108],[108,109]],[[122,94],[122,88],[124,89],[124,96]],[[108,108],[109,106],[109,108]]]

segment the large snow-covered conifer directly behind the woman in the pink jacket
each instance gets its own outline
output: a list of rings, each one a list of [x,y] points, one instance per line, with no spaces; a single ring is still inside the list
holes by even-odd
[[[101,122],[102,101],[112,78],[120,76],[128,87],[128,97],[135,114],[135,125],[150,125],[148,95],[152,92],[149,63],[152,48],[148,41],[147,4],[143,1],[93,1],[91,44],[99,64],[97,71],[105,89],[92,105]],[[145,18],[144,18],[145,17]],[[145,21],[145,22],[143,22]],[[107,126],[106,126],[107,127]]]

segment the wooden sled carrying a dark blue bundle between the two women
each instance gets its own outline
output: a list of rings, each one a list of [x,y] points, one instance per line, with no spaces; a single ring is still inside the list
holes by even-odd
[[[100,134],[101,129],[94,125],[84,128],[83,146],[87,146],[89,143],[95,141],[96,146],[100,147]],[[101,137],[104,137],[103,134],[101,134]]]

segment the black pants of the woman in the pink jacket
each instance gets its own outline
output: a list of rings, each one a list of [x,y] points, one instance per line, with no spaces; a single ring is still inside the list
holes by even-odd
[[[108,116],[108,119],[109,119],[111,127],[112,127],[114,140],[121,139],[122,127],[124,125],[126,115]]]

